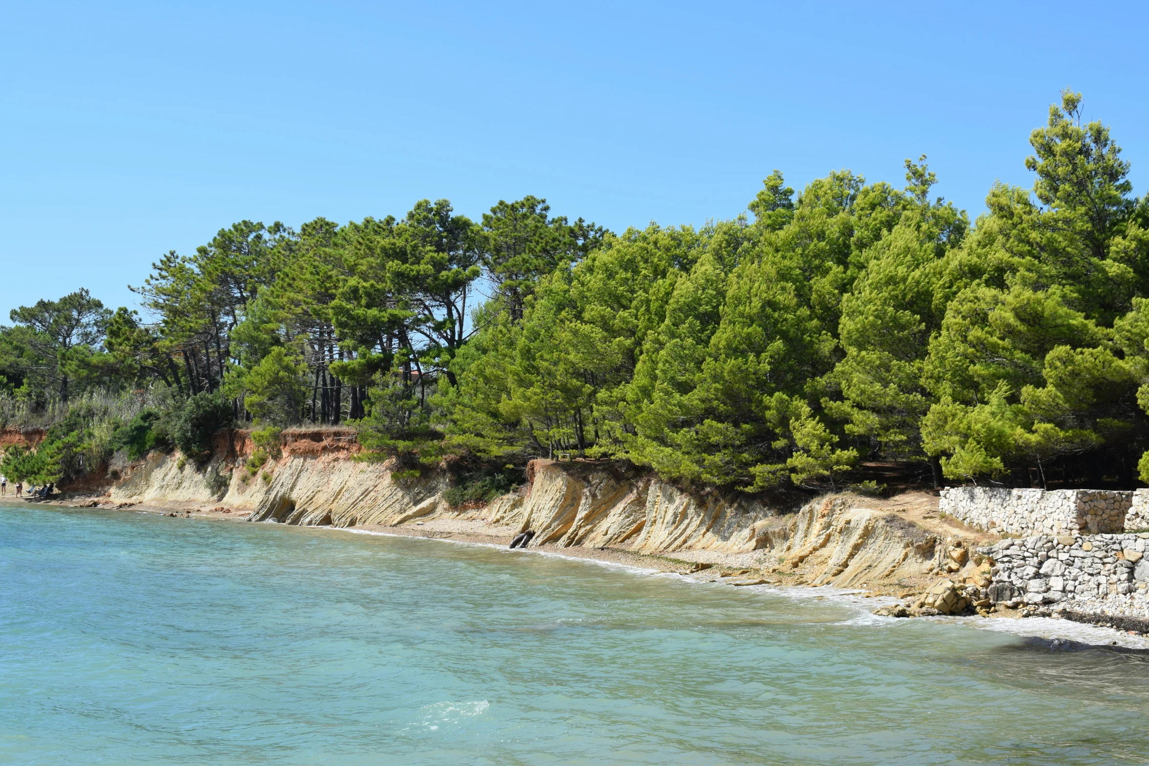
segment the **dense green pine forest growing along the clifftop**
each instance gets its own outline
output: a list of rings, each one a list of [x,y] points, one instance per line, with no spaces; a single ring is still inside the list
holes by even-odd
[[[292,229],[244,220],[168,253],[140,309],[86,291],[0,328],[0,419],[46,428],[9,478],[107,471],[214,432],[346,425],[470,495],[571,452],[739,492],[1149,481],[1149,194],[1066,91],[1030,137],[1032,188],[987,211],[831,172],[773,171],[748,212],[607,231],[499,202]],[[1023,160],[1019,157],[1019,161]],[[264,454],[265,456],[265,454]],[[263,459],[263,458],[261,458]]]

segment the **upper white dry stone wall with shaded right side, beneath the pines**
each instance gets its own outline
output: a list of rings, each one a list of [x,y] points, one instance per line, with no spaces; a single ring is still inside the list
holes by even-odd
[[[1134,494],[1104,489],[1047,492],[950,487],[941,490],[939,510],[964,524],[998,534],[1103,534],[1127,528],[1126,516],[1133,506]],[[1149,496],[1144,501],[1144,512],[1149,517]],[[1143,526],[1149,527],[1149,523]]]

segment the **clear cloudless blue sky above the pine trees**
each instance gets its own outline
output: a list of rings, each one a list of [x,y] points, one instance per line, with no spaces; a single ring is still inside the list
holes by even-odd
[[[1149,178],[1139,5],[485,5],[6,3],[0,320],[80,286],[134,305],[233,220],[422,198],[701,224],[773,168],[901,186],[924,153],[976,216],[994,179],[1030,186],[1066,85]]]

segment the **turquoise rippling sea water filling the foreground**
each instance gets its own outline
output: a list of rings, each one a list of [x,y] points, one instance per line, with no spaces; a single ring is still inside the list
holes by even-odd
[[[0,508],[0,763],[1149,763],[1149,655],[437,541]]]

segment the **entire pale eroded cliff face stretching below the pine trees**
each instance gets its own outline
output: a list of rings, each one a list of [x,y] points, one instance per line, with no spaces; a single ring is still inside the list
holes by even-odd
[[[111,493],[142,504],[223,505],[253,521],[400,526],[448,518],[535,535],[531,547],[591,547],[673,557],[687,551],[761,551],[810,585],[895,582],[966,565],[972,540],[938,534],[897,513],[828,496],[801,509],[746,496],[693,494],[658,478],[608,463],[534,461],[529,486],[484,508],[452,509],[442,500],[445,471],[394,481],[385,464],[350,459],[350,448],[301,440],[256,475],[242,466],[245,447],[207,470],[154,455]],[[233,467],[232,467],[233,466]],[[230,473],[229,473],[230,472]],[[264,473],[267,477],[264,477]],[[955,554],[958,551],[958,554]],[[702,559],[705,557],[703,556]]]

